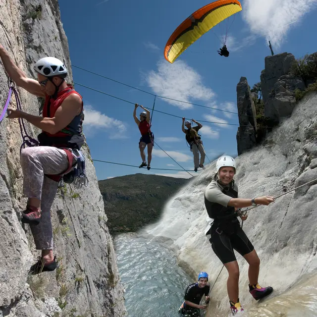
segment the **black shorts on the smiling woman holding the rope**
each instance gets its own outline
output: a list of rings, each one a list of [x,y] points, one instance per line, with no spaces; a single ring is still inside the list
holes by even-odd
[[[216,230],[217,227],[215,224],[211,226],[211,238],[209,241],[213,252],[223,264],[237,260],[233,249],[239,252],[241,256],[245,256],[254,250],[254,246],[240,227],[240,224],[235,226],[235,232],[230,235],[223,231],[221,232],[221,230]]]

